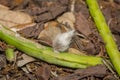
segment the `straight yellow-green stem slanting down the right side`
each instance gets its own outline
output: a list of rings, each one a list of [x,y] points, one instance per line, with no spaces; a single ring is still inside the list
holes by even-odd
[[[120,52],[114,41],[112,33],[105,21],[105,18],[99,8],[97,0],[86,0],[91,16],[93,17],[96,27],[103,38],[107,53],[120,76]]]

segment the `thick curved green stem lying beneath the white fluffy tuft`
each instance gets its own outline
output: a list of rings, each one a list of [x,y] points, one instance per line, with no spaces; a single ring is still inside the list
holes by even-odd
[[[15,46],[17,49],[35,58],[41,59],[48,63],[70,67],[70,68],[86,68],[102,63],[102,58],[93,56],[83,56],[72,53],[54,53],[49,47],[42,47],[40,44],[25,39],[15,32],[6,29],[0,25],[0,39],[9,45]]]

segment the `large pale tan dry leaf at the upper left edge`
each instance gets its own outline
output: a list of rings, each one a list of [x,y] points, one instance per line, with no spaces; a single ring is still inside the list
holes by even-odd
[[[26,13],[0,8],[0,24],[6,27],[11,28],[31,23],[32,17]]]

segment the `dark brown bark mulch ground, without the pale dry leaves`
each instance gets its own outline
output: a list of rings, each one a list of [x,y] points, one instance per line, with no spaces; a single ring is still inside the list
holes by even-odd
[[[120,50],[120,0],[99,0],[99,6],[105,16],[111,32]],[[11,10],[21,10],[33,17],[36,25],[18,31],[25,38],[35,40],[45,46],[51,46],[44,40],[38,39],[44,30],[46,22],[55,21],[62,14],[70,11],[70,0],[0,0],[0,4]],[[74,14],[76,17],[75,29],[82,34],[82,39],[77,37],[70,46],[86,55],[95,55],[109,58],[106,54],[104,42],[100,37],[95,24],[90,17],[85,0],[77,0]],[[89,43],[85,45],[85,40]],[[36,59],[22,67],[15,62],[9,62],[5,56],[8,47],[0,42],[0,80],[117,80],[117,74],[105,65],[92,66],[86,69],[70,69],[56,66]],[[23,52],[15,49],[16,61]]]

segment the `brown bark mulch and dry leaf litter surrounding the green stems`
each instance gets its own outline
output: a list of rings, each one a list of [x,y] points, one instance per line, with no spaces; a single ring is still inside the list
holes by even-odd
[[[99,0],[100,8],[120,49],[120,0]],[[70,0],[0,0],[0,23],[23,37],[52,47],[59,33],[75,29],[69,52],[109,58],[84,0],[77,0],[74,14]],[[9,62],[0,41],[0,80],[116,80],[105,65],[69,69],[48,64],[15,49]]]

